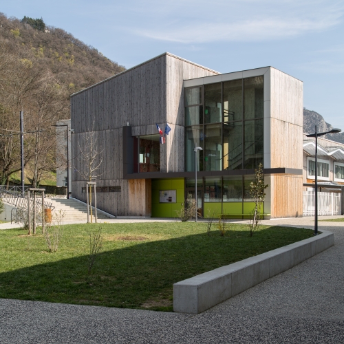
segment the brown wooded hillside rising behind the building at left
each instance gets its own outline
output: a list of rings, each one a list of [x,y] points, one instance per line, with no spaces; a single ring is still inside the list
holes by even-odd
[[[25,174],[38,186],[56,169],[61,149],[53,125],[69,118],[70,94],[123,70],[43,19],[0,13],[0,184],[20,170],[19,111],[24,112]]]

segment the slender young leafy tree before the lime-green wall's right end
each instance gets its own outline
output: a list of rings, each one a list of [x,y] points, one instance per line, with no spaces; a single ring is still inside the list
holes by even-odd
[[[264,184],[263,164],[259,164],[258,169],[255,170],[255,181],[250,183],[250,196],[255,202],[255,208],[250,219],[250,237],[260,226],[261,206],[266,197],[266,188],[268,188],[268,184]]]

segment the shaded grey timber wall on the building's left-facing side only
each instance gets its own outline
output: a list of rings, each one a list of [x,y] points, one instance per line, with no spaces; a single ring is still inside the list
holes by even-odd
[[[118,193],[99,193],[97,205],[113,215],[151,215],[150,180],[123,180],[122,127],[136,125],[155,127],[166,114],[166,54],[104,80],[71,97],[74,153],[78,142],[83,146],[89,131],[95,132],[100,158],[97,186],[121,186]],[[150,126],[149,126],[150,125]],[[156,131],[156,127],[155,127]],[[80,164],[80,162],[76,162]],[[76,166],[76,171],[80,166]],[[86,180],[80,173],[72,174],[73,197],[85,200],[81,192]]]

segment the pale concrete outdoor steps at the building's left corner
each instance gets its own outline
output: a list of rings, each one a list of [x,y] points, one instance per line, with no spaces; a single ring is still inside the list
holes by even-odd
[[[52,198],[51,200],[52,206],[54,206],[54,210],[52,211],[52,215],[58,211],[65,211],[65,217],[63,220],[65,222],[87,222],[87,206],[73,198],[69,198],[69,200],[65,198]],[[110,216],[105,215],[102,211],[97,209],[97,217],[98,219],[109,219]],[[94,222],[94,207],[92,207],[92,222]]]

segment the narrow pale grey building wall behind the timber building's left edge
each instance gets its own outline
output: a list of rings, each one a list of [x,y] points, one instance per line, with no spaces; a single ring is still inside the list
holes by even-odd
[[[56,122],[56,186],[67,187],[67,160],[69,159],[69,195],[72,193],[72,164],[70,162],[70,120],[60,120]],[[68,144],[67,144],[68,138]],[[67,154],[68,145],[68,154]]]

